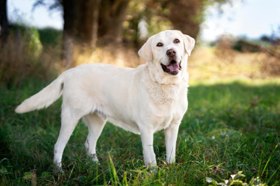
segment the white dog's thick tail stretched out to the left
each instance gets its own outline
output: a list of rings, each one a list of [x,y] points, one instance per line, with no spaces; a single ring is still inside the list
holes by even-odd
[[[42,109],[44,107],[50,106],[55,100],[57,100],[62,92],[64,85],[64,75],[62,73],[55,79],[51,84],[46,86],[40,92],[32,95],[30,98],[24,100],[16,109],[17,113],[25,113],[35,109]]]

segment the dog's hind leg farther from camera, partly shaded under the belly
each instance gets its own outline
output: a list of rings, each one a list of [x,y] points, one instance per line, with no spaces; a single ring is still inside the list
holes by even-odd
[[[88,137],[85,142],[87,154],[93,162],[98,162],[95,149],[96,142],[105,126],[106,120],[102,120],[96,114],[88,114],[84,116],[84,121],[88,125]]]

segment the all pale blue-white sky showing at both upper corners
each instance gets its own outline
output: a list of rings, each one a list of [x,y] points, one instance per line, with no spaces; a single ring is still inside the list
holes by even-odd
[[[34,0],[8,0],[8,19],[39,28],[63,28],[62,12],[49,11],[44,6],[32,10],[33,3]],[[216,6],[206,10],[208,16],[201,25],[202,40],[213,41],[222,34],[258,38],[274,32],[280,36],[280,0],[234,0],[232,5],[221,8],[223,13]]]

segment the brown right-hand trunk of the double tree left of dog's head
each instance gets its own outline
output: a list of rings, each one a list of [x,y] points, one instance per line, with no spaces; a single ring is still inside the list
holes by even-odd
[[[103,0],[100,3],[98,17],[99,43],[120,43],[122,27],[126,16],[129,0]]]

